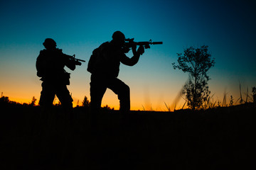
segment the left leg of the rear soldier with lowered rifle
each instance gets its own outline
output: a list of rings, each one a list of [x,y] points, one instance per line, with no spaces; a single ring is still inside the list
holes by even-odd
[[[54,97],[55,91],[52,84],[47,84],[46,82],[43,82],[39,105],[49,108],[53,105]]]

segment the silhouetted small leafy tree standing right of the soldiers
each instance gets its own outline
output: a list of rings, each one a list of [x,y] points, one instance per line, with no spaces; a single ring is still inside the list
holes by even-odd
[[[201,48],[188,47],[184,53],[178,53],[178,65],[173,64],[174,69],[181,69],[188,73],[188,82],[183,87],[183,94],[186,95],[188,107],[193,110],[201,108],[203,101],[206,101],[210,91],[207,81],[210,79],[207,75],[210,67],[213,67],[214,58],[208,52],[208,46]]]

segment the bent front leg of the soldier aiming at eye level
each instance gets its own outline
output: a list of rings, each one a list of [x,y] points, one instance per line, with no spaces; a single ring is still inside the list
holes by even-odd
[[[114,91],[114,94],[117,94],[120,101],[120,111],[123,113],[129,113],[130,110],[130,90],[127,84],[124,84],[123,81],[114,78],[112,81],[107,84],[107,88]]]

